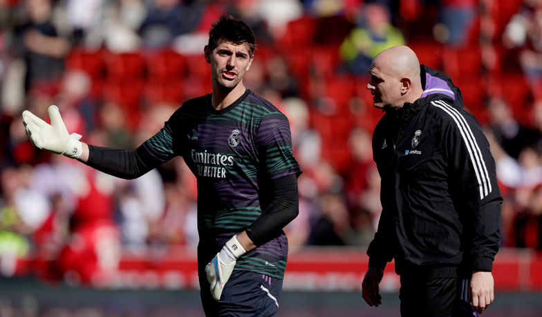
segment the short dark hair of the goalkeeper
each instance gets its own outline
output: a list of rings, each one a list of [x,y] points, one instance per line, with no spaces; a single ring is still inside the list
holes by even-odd
[[[250,56],[254,55],[254,49],[256,48],[254,32],[247,23],[232,15],[223,15],[211,25],[209,48],[214,50],[221,41],[227,41],[235,45],[247,44]]]

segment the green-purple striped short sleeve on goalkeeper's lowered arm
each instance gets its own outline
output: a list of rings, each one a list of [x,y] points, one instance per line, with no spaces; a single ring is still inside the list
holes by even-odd
[[[270,180],[286,175],[301,175],[301,167],[292,152],[290,123],[282,113],[265,115],[256,132],[256,148]]]

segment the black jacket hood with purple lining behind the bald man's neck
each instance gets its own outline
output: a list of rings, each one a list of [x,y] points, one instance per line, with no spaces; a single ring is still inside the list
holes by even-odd
[[[463,108],[463,95],[450,77],[423,64],[420,70],[424,93],[418,102],[427,104],[433,100],[448,99],[455,108]]]

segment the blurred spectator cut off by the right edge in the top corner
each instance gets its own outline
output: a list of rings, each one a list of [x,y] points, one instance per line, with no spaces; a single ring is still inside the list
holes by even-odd
[[[541,99],[542,85],[542,4],[525,0],[503,32],[507,48],[520,48],[519,63],[535,99]]]

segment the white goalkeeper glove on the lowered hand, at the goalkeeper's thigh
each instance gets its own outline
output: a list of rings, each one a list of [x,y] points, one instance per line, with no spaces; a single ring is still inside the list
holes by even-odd
[[[214,300],[221,298],[224,285],[230,279],[230,276],[232,276],[237,259],[246,252],[245,248],[237,240],[237,236],[233,236],[205,267],[207,280],[211,284],[211,294]]]

